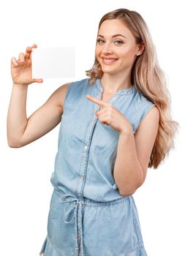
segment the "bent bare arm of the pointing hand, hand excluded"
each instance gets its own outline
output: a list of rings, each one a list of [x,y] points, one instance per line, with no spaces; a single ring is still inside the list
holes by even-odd
[[[159,110],[154,106],[140,122],[120,132],[113,176],[121,195],[132,195],[146,178],[148,162],[159,127]]]

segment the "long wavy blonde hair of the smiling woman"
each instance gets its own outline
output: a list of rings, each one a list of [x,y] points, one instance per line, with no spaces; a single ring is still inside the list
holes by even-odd
[[[144,42],[145,49],[137,56],[132,66],[131,82],[136,89],[150,99],[159,109],[159,129],[156,135],[154,147],[151,151],[148,167],[158,167],[159,163],[169,155],[171,148],[175,148],[175,132],[178,130],[178,122],[173,121],[170,115],[170,93],[167,89],[165,73],[159,67],[156,56],[156,48],[151,39],[146,22],[138,12],[127,9],[118,9],[107,12],[99,21],[99,28],[104,20],[119,19],[135,36],[135,42]],[[86,70],[90,77],[89,84],[93,85],[97,78],[102,78],[103,72],[95,56],[94,65]]]

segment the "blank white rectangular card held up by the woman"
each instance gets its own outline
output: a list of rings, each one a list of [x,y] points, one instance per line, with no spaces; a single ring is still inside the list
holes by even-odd
[[[75,47],[33,48],[32,78],[74,78]]]

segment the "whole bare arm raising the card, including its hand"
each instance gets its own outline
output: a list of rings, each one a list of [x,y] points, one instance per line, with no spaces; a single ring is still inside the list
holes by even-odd
[[[42,83],[42,78],[31,76],[32,45],[26,53],[20,53],[18,60],[11,59],[12,95],[7,114],[7,141],[10,147],[18,148],[42,137],[61,121],[63,102],[69,83],[59,87],[48,100],[28,119],[26,116],[26,97],[31,83]]]

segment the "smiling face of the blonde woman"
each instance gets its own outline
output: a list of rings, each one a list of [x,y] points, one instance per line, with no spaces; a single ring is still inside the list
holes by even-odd
[[[121,20],[102,22],[95,50],[102,72],[115,75],[132,69],[138,52],[139,45],[135,43],[135,37]]]

